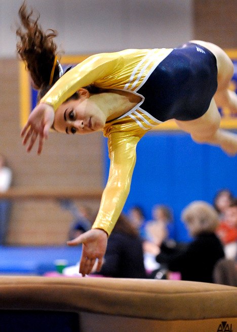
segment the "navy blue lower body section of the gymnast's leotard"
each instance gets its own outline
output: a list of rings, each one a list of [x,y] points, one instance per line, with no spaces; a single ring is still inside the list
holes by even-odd
[[[141,108],[160,121],[194,120],[206,113],[217,89],[215,56],[200,45],[174,49],[137,93]]]

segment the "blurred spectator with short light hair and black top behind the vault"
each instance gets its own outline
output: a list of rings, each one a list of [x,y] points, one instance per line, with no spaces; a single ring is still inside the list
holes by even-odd
[[[182,212],[193,240],[183,250],[162,246],[156,260],[166,264],[170,271],[181,273],[182,280],[213,282],[213,269],[224,257],[220,240],[215,235],[219,224],[218,214],[203,201],[190,203]]]

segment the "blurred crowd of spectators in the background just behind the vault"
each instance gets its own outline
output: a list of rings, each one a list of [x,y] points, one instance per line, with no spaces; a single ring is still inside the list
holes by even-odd
[[[90,229],[94,220],[87,207],[77,211],[69,239]],[[108,239],[102,270],[94,274],[237,285],[237,199],[231,191],[218,191],[213,204],[193,201],[183,209],[188,242],[176,240],[172,207],[156,204],[152,217],[147,220],[141,206],[121,214]],[[65,273],[78,275],[78,265]]]

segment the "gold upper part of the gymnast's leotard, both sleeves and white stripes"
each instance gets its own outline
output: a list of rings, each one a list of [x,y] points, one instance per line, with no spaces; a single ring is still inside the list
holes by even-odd
[[[92,228],[103,229],[108,235],[122,212],[130,191],[137,143],[146,131],[162,122],[157,120],[162,109],[157,110],[157,117],[156,113],[151,114],[150,110],[147,112],[143,109],[145,98],[139,91],[143,91],[148,85],[155,68],[160,63],[162,67],[163,61],[169,58],[172,51],[173,49],[129,49],[93,55],[66,72],[41,99],[41,102],[52,105],[56,110],[74,92],[90,84],[103,89],[129,91],[141,97],[139,104],[122,117],[107,122],[103,129],[104,136],[108,137],[110,170]],[[169,88],[166,85],[167,91]],[[195,87],[192,89],[195,91]],[[154,88],[153,90],[156,93]],[[153,104],[155,108],[156,103]]]

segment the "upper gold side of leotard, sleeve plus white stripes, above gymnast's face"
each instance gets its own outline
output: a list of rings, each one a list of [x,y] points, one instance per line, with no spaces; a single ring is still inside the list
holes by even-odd
[[[74,92],[94,84],[103,89],[134,91],[173,49],[129,49],[95,54],[58,80],[41,99],[56,110]]]

